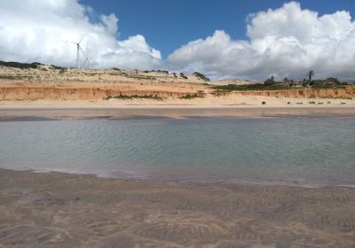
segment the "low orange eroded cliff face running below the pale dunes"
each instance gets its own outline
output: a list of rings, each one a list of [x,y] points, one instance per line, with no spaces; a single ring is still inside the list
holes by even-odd
[[[293,97],[293,98],[343,98],[353,99],[355,88],[348,89],[289,89],[262,91],[214,91],[201,85],[161,85],[150,84],[48,84],[48,83],[0,83],[0,100],[33,101],[33,100],[102,100],[108,97],[151,96],[162,98],[178,98],[195,94],[198,91],[213,97]]]

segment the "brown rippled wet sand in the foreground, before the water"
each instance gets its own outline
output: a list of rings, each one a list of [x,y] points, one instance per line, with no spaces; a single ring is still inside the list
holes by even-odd
[[[355,189],[0,170],[0,247],[354,247]]]

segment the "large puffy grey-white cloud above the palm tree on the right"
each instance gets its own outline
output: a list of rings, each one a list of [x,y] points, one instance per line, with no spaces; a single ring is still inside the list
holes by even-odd
[[[319,16],[291,2],[280,9],[248,16],[248,41],[234,41],[223,30],[175,50],[170,65],[210,76],[302,79],[307,70],[319,77],[355,78],[355,22],[349,12]]]

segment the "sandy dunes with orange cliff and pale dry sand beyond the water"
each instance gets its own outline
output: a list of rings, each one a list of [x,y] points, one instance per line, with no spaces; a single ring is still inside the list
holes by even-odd
[[[86,101],[99,105],[355,105],[355,88],[351,86],[248,91],[211,87],[228,83],[243,85],[250,81],[209,82],[196,74],[167,71],[85,70],[40,64],[35,68],[0,66],[0,104]]]

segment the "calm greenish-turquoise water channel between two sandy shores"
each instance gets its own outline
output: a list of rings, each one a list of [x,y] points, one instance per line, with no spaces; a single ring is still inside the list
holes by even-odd
[[[113,177],[355,185],[355,119],[0,122],[0,167]]]

